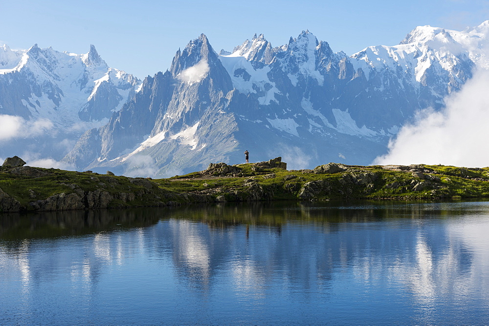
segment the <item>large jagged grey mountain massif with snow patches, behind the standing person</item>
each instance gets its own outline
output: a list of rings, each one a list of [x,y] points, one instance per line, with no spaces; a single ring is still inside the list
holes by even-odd
[[[463,32],[420,26],[399,45],[333,53],[309,31],[272,47],[254,36],[218,55],[205,35],[143,82],[65,162],[167,176],[282,156],[291,168],[368,164],[417,110],[444,106],[489,67],[489,21]]]

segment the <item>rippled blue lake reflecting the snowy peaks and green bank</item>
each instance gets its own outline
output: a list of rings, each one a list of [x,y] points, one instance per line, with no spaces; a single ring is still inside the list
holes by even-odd
[[[489,324],[489,202],[0,216],[0,324]]]

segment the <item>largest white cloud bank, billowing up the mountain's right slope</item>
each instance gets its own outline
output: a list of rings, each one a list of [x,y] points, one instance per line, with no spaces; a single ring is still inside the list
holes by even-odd
[[[374,164],[489,166],[489,72],[479,69],[441,112],[424,110],[403,126]]]

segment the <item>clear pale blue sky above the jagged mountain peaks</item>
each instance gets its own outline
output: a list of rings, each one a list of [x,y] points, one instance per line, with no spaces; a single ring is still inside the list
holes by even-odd
[[[0,43],[86,53],[144,78],[169,68],[178,48],[207,35],[219,52],[263,33],[273,46],[309,29],[348,55],[395,45],[418,25],[463,30],[489,19],[487,0],[156,1],[0,0]]]

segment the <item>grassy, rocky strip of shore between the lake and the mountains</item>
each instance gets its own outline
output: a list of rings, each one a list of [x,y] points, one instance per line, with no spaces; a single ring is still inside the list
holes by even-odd
[[[279,200],[489,197],[489,167],[335,163],[313,170],[285,167],[280,158],[237,165],[217,163],[204,171],[153,180],[2,166],[0,212]]]

